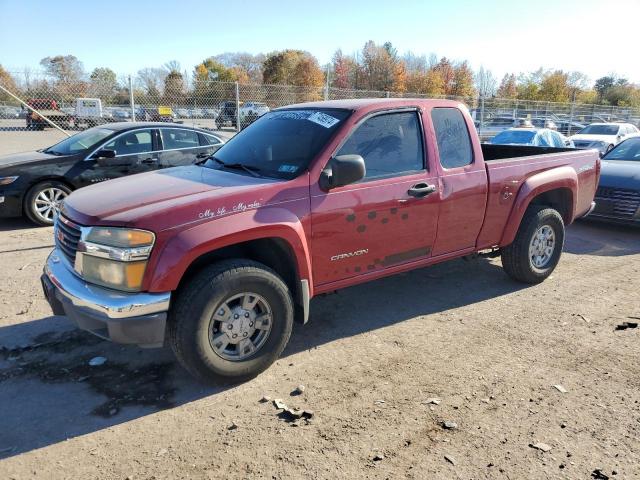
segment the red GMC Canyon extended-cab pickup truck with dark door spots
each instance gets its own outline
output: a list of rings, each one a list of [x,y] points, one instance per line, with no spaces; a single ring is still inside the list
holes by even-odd
[[[71,194],[42,283],[80,328],[248,378],[314,295],[471,254],[541,282],[599,172],[596,151],[481,145],[453,101],[292,105],[200,165]]]

